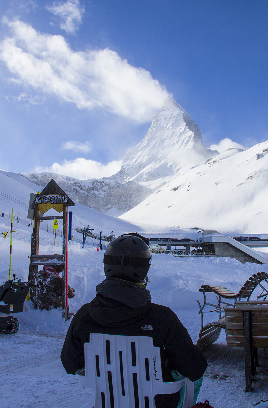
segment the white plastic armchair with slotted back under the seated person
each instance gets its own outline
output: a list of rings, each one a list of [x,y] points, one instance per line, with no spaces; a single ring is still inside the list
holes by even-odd
[[[182,408],[193,406],[193,382],[186,377],[163,382],[160,348],[152,337],[90,333],[79,384],[94,389],[94,408],[156,408],[157,394],[173,394],[185,385]]]

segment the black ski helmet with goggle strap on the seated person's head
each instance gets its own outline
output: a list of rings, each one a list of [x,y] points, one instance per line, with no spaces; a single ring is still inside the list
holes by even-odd
[[[120,235],[110,242],[105,251],[105,276],[141,283],[149,271],[151,260],[148,239],[137,233]]]

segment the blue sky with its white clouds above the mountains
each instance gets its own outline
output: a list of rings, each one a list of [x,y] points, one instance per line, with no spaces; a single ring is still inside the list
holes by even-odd
[[[110,175],[168,94],[207,147],[268,138],[267,1],[2,0],[0,13],[4,170]]]

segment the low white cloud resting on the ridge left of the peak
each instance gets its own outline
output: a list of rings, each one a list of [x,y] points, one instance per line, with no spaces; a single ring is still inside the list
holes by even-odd
[[[36,166],[35,173],[57,173],[79,180],[90,178],[109,177],[121,169],[122,160],[113,160],[108,164],[101,164],[94,160],[78,157],[75,160],[64,160],[62,163],[53,163],[51,167]]]

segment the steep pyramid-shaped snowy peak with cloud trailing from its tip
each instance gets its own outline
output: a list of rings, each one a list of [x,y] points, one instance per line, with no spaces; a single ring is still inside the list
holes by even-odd
[[[167,182],[176,171],[219,154],[202,142],[201,131],[191,116],[174,99],[167,97],[154,115],[144,139],[123,158],[126,180],[150,188]]]

